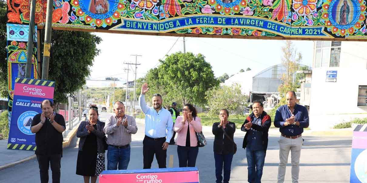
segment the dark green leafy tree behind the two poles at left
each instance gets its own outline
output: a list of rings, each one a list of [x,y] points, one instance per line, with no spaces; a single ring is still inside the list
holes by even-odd
[[[0,0],[1,96],[7,96],[6,20],[6,5]],[[39,41],[41,46],[38,50],[43,55],[44,30],[41,30]],[[55,81],[55,102],[66,102],[67,94],[86,84],[94,57],[99,53],[97,44],[101,41],[100,37],[88,32],[52,30],[48,80]]]

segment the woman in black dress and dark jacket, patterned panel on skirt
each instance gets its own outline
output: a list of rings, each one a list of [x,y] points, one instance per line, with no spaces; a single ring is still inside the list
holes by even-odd
[[[76,136],[79,140],[76,174],[84,177],[84,183],[97,181],[98,175],[105,170],[105,123],[98,120],[98,108],[92,106],[88,120],[80,123]]]

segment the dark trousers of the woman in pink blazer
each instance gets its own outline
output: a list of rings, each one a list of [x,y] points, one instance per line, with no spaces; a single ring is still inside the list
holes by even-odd
[[[177,146],[178,166],[195,167],[199,147]]]

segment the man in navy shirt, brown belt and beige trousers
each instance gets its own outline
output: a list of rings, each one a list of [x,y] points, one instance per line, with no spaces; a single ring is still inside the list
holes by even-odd
[[[303,128],[309,125],[306,107],[296,104],[296,94],[288,91],[286,105],[280,106],[275,113],[274,126],[281,133],[279,139],[278,183],[284,182],[289,151],[291,151],[292,183],[298,183],[299,157],[301,157]]]

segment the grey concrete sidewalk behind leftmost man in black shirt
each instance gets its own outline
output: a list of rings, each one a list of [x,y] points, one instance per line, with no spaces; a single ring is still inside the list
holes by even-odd
[[[62,143],[62,147],[68,147],[70,145],[70,141],[73,137],[75,137],[78,126],[81,121],[79,119],[73,120],[73,129],[69,130],[69,123],[66,123],[66,130],[62,133],[64,137],[64,141]],[[8,139],[0,140],[0,170],[12,167],[17,164],[21,164],[25,161],[32,160],[33,158],[36,158],[36,155],[34,154],[34,151],[32,150],[11,150],[7,149],[8,146]]]

